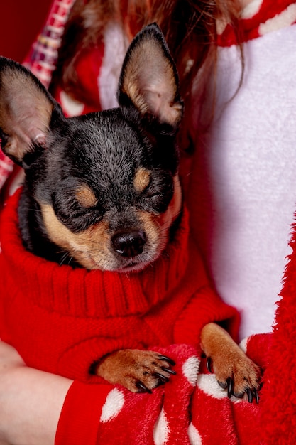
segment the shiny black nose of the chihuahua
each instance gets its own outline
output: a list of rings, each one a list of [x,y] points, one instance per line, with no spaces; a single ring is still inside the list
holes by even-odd
[[[143,252],[146,240],[143,230],[132,230],[116,233],[111,241],[115,252],[119,253],[121,257],[131,258]]]

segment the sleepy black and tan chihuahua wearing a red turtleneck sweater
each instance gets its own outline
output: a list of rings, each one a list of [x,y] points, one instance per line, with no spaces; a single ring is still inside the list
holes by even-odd
[[[175,144],[183,104],[175,63],[155,23],[128,48],[118,100],[118,108],[65,118],[26,68],[0,59],[1,146],[26,176],[15,200],[22,245],[15,240],[13,261],[10,228],[2,228],[1,338],[28,365],[74,378],[70,364],[82,363],[84,377],[95,374],[133,392],[150,392],[175,373],[174,361],[152,345],[193,343],[229,397],[258,400],[259,368],[219,326],[229,313],[204,309],[207,299],[211,308],[228,306],[209,286],[188,236]],[[21,269],[31,264],[26,277],[49,265],[50,279],[61,277],[62,284],[36,275],[28,297],[20,286],[9,298],[19,258]],[[72,289],[77,277],[88,290]],[[57,314],[58,321],[50,318]],[[31,336],[26,345],[24,331]]]

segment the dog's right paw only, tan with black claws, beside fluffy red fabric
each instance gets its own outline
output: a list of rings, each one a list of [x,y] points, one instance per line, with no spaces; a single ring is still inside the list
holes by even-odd
[[[259,402],[258,389],[261,369],[242,350],[231,351],[229,356],[217,355],[207,358],[207,368],[214,372],[219,385],[227,390],[228,397],[246,398]]]

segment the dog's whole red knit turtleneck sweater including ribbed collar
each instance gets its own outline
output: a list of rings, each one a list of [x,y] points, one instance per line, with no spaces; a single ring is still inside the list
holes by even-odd
[[[113,350],[199,347],[209,321],[227,320],[236,334],[236,310],[210,289],[189,242],[186,210],[175,240],[144,272],[89,272],[24,250],[18,197],[10,198],[1,218],[0,336],[28,365],[87,380],[92,361]]]

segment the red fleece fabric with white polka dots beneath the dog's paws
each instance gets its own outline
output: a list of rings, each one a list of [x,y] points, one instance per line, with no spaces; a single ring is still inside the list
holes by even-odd
[[[260,335],[245,343],[248,355],[257,361],[261,356],[263,368],[269,342],[269,335]],[[188,345],[171,345],[159,352],[176,361],[177,375],[152,394],[112,389],[102,409],[100,444],[261,444],[260,402],[229,399]]]

